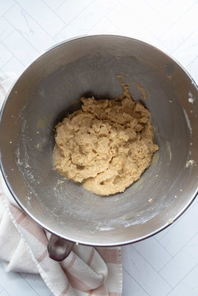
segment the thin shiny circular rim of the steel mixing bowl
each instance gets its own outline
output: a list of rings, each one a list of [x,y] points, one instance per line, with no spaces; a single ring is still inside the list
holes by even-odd
[[[61,41],[51,47],[49,47],[48,49],[46,49],[44,52],[42,52],[41,54],[39,54],[35,59],[33,59],[33,61],[31,63],[29,63],[24,69],[23,71],[20,73],[20,75],[17,76],[16,80],[14,81],[14,83],[12,84],[12,86],[10,87],[9,91],[7,92],[6,96],[5,96],[5,99],[4,99],[4,102],[2,104],[2,107],[1,107],[1,110],[0,110],[0,125],[1,125],[1,120],[2,120],[2,115],[3,115],[3,112],[4,112],[4,108],[5,108],[5,105],[6,105],[6,102],[9,98],[9,95],[10,93],[12,92],[15,84],[17,83],[17,81],[20,79],[20,77],[22,77],[22,75],[26,72],[26,70],[34,64],[34,62],[36,62],[39,58],[41,58],[42,56],[44,56],[46,53],[50,52],[51,50],[55,49],[56,47],[58,46],[61,46],[65,43],[69,43],[69,42],[72,42],[72,41],[75,41],[75,40],[78,40],[78,39],[83,39],[83,38],[89,38],[89,37],[102,37],[102,36],[106,36],[106,37],[121,37],[121,38],[128,38],[128,39],[133,39],[135,41],[139,41],[139,42],[142,42],[144,44],[147,44],[147,45],[150,45],[152,46],[154,49],[157,49],[159,50],[160,52],[162,52],[163,54],[167,55],[167,57],[169,57],[170,59],[172,59],[182,70],[183,72],[189,77],[189,79],[191,80],[192,84],[195,86],[196,90],[197,90],[197,93],[198,93],[198,86],[197,86],[197,83],[194,81],[194,79],[192,78],[192,76],[188,73],[188,71],[180,64],[180,62],[178,62],[174,57],[172,57],[169,53],[165,52],[163,49],[160,49],[158,46],[156,46],[155,44],[151,43],[151,42],[148,42],[148,41],[144,41],[143,39],[141,38],[135,38],[133,36],[129,36],[129,35],[120,35],[120,34],[113,34],[113,33],[96,33],[96,34],[87,34],[87,35],[80,35],[80,36],[75,36],[75,37],[72,37],[72,38],[69,38],[69,39],[66,39],[64,41]],[[1,147],[0,147],[0,150],[1,150]],[[62,234],[58,233],[58,231],[54,231],[53,229],[51,229],[51,227],[48,227],[46,225],[44,225],[44,223],[40,222],[38,218],[34,217],[34,215],[32,215],[28,209],[23,205],[22,202],[20,202],[20,200],[18,200],[18,197],[17,195],[15,194],[15,192],[12,190],[10,184],[9,184],[9,181],[6,177],[6,174],[5,174],[5,171],[4,171],[4,167],[3,167],[3,164],[2,164],[2,159],[1,159],[1,152],[0,152],[0,169],[1,169],[1,173],[2,173],[2,176],[4,178],[4,181],[9,189],[9,192],[12,194],[12,197],[14,198],[14,200],[17,202],[17,204],[19,205],[19,207],[23,210],[23,212],[28,215],[29,218],[31,218],[31,220],[33,220],[35,223],[37,223],[40,227],[42,227],[42,229],[45,229],[46,231],[50,232],[51,234],[61,238],[61,239],[65,239],[69,242],[73,242],[73,243],[76,243],[78,242],[79,244],[83,244],[83,245],[86,245],[86,246],[93,246],[93,247],[118,247],[118,246],[123,246],[123,245],[127,245],[127,244],[132,244],[132,243],[135,243],[135,242],[140,242],[144,239],[147,239],[149,237],[152,237],[153,235],[159,233],[160,231],[166,229],[168,226],[170,226],[170,224],[167,222],[164,226],[160,227],[159,229],[147,234],[147,235],[144,235],[142,237],[140,237],[139,239],[129,239],[125,242],[122,242],[122,243],[113,243],[113,244],[107,244],[107,243],[101,243],[101,244],[91,244],[91,243],[88,243],[86,241],[82,241],[82,240],[79,240],[79,241],[76,241],[70,237],[67,237],[67,236],[63,236]],[[183,209],[177,213],[177,215],[175,215],[175,217],[173,218],[173,222],[175,222],[178,218],[180,218],[180,216],[189,208],[189,206],[191,205],[191,203],[194,201],[194,199],[197,197],[197,194],[198,194],[198,188],[197,188],[197,191],[194,192],[193,196],[191,197],[191,199],[189,200],[189,202],[183,207]]]

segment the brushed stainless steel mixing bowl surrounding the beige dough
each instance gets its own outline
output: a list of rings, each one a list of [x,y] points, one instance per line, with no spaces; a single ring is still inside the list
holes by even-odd
[[[160,149],[139,181],[101,197],[56,173],[53,129],[80,108],[81,96],[121,94],[116,74],[151,111]],[[28,66],[7,94],[0,124],[5,181],[24,212],[58,237],[92,246],[137,242],[178,218],[197,194],[197,104],[186,70],[148,43],[113,35],[64,41]]]

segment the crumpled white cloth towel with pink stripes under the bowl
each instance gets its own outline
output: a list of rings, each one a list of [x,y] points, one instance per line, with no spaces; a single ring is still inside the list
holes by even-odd
[[[16,75],[0,75],[0,107]],[[61,263],[47,256],[50,234],[17,205],[0,185],[0,260],[5,271],[40,274],[55,296],[121,296],[121,248],[74,246]]]

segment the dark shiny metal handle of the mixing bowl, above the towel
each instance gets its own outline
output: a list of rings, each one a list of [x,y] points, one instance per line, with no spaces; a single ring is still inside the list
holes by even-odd
[[[58,262],[63,261],[70,254],[74,243],[51,234],[47,245],[48,256]]]

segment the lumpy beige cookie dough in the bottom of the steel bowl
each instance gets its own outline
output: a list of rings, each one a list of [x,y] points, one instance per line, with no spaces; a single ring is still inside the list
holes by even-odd
[[[123,192],[151,164],[151,113],[125,88],[122,100],[81,98],[82,110],[56,125],[54,165],[59,174],[98,195]]]

